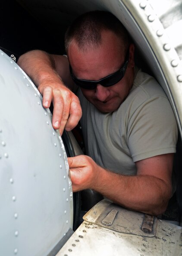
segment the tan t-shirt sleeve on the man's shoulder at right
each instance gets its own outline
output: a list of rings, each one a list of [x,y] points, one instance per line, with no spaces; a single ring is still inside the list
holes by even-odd
[[[127,130],[133,162],[176,152],[178,128],[166,97],[155,96],[145,100],[132,113]]]

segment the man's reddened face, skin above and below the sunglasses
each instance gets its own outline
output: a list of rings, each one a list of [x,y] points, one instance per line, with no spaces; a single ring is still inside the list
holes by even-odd
[[[86,52],[80,50],[75,42],[68,49],[68,58],[76,78],[98,81],[113,74],[124,63],[126,51],[113,32],[102,33],[102,43],[95,49]],[[129,62],[124,77],[110,87],[97,84],[96,89],[83,89],[83,95],[100,112],[108,113],[117,110],[122,101],[127,97],[133,84],[134,77],[134,46],[130,45]]]

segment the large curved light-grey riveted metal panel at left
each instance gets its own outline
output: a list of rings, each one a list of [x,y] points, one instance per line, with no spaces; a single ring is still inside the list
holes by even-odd
[[[66,152],[28,76],[0,67],[0,255],[44,256],[72,228]]]

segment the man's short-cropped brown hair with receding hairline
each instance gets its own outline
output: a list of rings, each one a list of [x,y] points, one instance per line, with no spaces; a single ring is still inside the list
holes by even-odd
[[[79,49],[83,51],[99,46],[103,30],[114,32],[121,38],[123,46],[128,49],[131,39],[119,19],[110,12],[97,10],[82,14],[67,29],[65,34],[66,52],[68,52],[68,47],[73,39]]]

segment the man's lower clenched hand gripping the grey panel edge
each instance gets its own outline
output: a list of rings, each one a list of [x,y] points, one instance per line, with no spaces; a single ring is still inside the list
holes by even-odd
[[[73,191],[94,188],[97,181],[98,166],[89,156],[75,156],[68,158]]]

